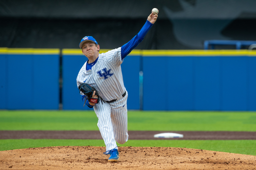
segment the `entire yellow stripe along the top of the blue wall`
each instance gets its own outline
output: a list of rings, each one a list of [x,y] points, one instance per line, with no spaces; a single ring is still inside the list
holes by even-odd
[[[110,49],[100,49],[105,53]],[[83,55],[81,49],[62,49],[62,55]],[[60,49],[44,48],[6,48],[0,47],[0,54],[59,54]],[[133,56],[256,56],[256,50],[132,50]]]

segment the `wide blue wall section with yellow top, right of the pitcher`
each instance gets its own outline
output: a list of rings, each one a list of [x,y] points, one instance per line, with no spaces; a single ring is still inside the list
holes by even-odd
[[[144,52],[143,110],[256,110],[255,52],[191,54],[189,50]],[[155,96],[159,99],[152,100]]]

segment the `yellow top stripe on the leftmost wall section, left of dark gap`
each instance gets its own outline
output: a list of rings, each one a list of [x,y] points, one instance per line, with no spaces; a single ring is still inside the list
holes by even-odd
[[[60,49],[52,48],[0,48],[0,54],[59,54]]]

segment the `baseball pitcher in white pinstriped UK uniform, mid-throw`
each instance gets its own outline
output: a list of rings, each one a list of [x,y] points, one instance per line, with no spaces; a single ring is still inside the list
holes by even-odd
[[[94,109],[98,118],[98,129],[106,146],[105,155],[109,162],[117,162],[116,142],[124,144],[128,140],[127,97],[121,73],[123,59],[144,38],[158,15],[150,13],[143,27],[129,42],[99,54],[98,42],[92,36],[84,36],[80,43],[82,53],[88,58],[76,78],[82,101]]]

